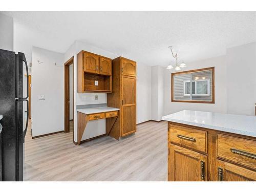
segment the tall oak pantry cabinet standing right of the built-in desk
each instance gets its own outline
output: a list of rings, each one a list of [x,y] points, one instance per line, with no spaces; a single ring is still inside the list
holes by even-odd
[[[137,131],[135,61],[123,57],[112,60],[112,90],[108,94],[108,106],[120,111],[116,120],[106,119],[106,133],[119,139]]]

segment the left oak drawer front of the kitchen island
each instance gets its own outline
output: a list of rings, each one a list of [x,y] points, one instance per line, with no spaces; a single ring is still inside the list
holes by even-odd
[[[179,125],[169,125],[169,140],[181,146],[207,153],[207,132]]]

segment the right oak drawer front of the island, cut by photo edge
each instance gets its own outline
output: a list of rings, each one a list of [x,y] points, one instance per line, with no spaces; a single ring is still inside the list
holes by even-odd
[[[256,169],[256,141],[217,134],[217,157]]]

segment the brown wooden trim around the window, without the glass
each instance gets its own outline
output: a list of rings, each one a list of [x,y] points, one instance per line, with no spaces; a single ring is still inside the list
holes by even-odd
[[[174,75],[177,74],[185,74],[185,73],[193,73],[193,72],[199,72],[199,71],[206,71],[206,70],[211,70],[212,71],[212,90],[211,90],[211,94],[212,94],[212,100],[211,101],[186,101],[186,100],[174,100],[174,89],[173,89],[173,85],[174,85],[174,80],[173,77]],[[210,68],[202,68],[202,69],[195,69],[195,70],[189,70],[189,71],[180,71],[180,72],[176,72],[176,73],[172,73],[170,76],[170,83],[172,85],[172,87],[170,88],[170,99],[172,102],[187,102],[187,103],[210,103],[210,104],[214,104],[215,103],[215,67],[210,67]]]

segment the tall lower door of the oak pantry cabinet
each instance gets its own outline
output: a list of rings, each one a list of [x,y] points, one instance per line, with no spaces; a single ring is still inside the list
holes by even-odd
[[[136,132],[136,77],[121,78],[121,136]]]

